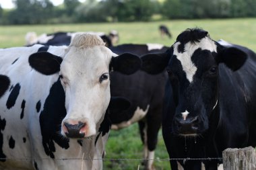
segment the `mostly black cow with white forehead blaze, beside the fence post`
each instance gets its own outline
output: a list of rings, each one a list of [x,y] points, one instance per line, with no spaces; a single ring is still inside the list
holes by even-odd
[[[256,54],[188,29],[162,54],[141,58],[144,70],[166,68],[162,134],[170,159],[221,158],[225,148],[256,146]],[[151,64],[151,67],[150,67]],[[164,83],[164,82],[163,82]],[[222,159],[203,161],[217,169]],[[201,169],[201,161],[170,161]]]

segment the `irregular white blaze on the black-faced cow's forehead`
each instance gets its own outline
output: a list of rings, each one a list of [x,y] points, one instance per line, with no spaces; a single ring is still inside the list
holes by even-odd
[[[193,76],[197,71],[191,57],[198,48],[201,50],[210,50],[210,52],[217,52],[217,46],[213,40],[208,37],[202,38],[199,42],[187,42],[184,46],[184,52],[179,52],[178,47],[181,42],[176,42],[173,45],[173,54],[177,56],[177,59],[181,61],[183,71],[186,73],[186,77],[190,83],[193,81]]]

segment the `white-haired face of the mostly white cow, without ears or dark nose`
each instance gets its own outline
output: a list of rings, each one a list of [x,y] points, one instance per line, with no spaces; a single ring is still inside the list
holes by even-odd
[[[105,46],[80,50],[71,47],[61,63],[67,109],[63,122],[85,122],[86,126],[80,131],[85,133],[85,137],[96,134],[97,123],[104,117],[110,101],[108,67],[112,55]],[[103,74],[108,75],[108,79],[100,82]],[[65,136],[63,129],[61,134]]]

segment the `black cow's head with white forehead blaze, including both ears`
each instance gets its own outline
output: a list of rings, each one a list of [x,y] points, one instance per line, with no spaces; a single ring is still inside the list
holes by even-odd
[[[243,66],[247,54],[218,44],[204,30],[188,29],[165,53],[148,54],[141,59],[146,71],[159,73],[166,69],[175,105],[172,130],[188,136],[209,128],[209,118],[218,104],[219,64],[236,71]]]

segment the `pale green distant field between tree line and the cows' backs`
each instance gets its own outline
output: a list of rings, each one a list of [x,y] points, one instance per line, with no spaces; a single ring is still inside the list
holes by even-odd
[[[165,24],[170,29],[173,38],[161,38],[158,26]],[[107,24],[63,24],[37,26],[0,26],[0,48],[23,46],[27,32],[36,34],[65,32],[106,32],[117,30],[120,35],[119,44],[124,43],[160,43],[170,46],[177,36],[186,28],[203,28],[214,40],[220,38],[241,44],[256,51],[256,18],[243,19],[202,19],[173,20],[164,22],[135,22]]]

